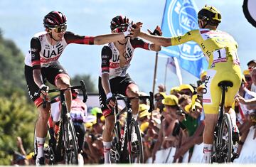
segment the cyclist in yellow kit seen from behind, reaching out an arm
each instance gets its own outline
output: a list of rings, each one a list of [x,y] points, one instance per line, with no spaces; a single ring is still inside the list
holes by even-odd
[[[228,87],[225,97],[225,111],[230,113],[233,123],[233,141],[238,141],[238,126],[235,124],[235,111],[231,109],[235,95],[241,84],[240,63],[237,49],[238,43],[232,36],[217,30],[221,15],[213,6],[204,6],[198,12],[198,30],[188,31],[183,36],[165,38],[151,36],[140,30],[142,23],[137,23],[134,36],[140,36],[157,45],[180,45],[188,41],[195,41],[200,45],[208,59],[206,89],[203,94],[203,109],[206,114],[206,126],[203,133],[203,161],[210,162],[210,152],[213,147],[213,131],[218,120],[218,109],[221,99],[221,89],[218,83],[223,80],[233,82],[233,87]]]

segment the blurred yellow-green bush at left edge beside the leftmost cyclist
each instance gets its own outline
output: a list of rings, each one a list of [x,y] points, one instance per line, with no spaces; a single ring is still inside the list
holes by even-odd
[[[36,122],[36,107],[26,104],[23,95],[0,97],[0,165],[8,165],[9,151],[16,150],[16,137],[21,136],[27,152],[33,149],[33,127]]]

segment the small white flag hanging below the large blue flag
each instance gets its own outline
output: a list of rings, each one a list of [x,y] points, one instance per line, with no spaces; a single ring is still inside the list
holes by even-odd
[[[174,72],[174,74],[178,77],[178,82],[181,85],[182,84],[182,77],[181,77],[181,69],[178,65],[178,60],[176,57],[170,57],[167,60],[166,66],[171,70],[171,72]]]

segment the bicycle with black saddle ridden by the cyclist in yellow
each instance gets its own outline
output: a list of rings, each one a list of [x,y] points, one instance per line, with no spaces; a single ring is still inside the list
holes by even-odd
[[[230,119],[230,114],[224,113],[224,103],[225,92],[228,91],[228,87],[233,87],[233,82],[222,81],[218,84],[218,86],[222,89],[222,97],[220,103],[220,114],[214,131],[211,161],[212,163],[230,163],[233,161],[233,159],[237,158],[237,154],[235,153],[235,149],[232,142],[233,124]],[[233,158],[231,158],[232,154]]]

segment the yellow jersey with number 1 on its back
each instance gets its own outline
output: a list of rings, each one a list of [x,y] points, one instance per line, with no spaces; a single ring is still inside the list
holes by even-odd
[[[200,45],[209,62],[209,69],[220,62],[240,64],[237,53],[238,43],[224,31],[210,30],[208,28],[188,31],[183,36],[171,38],[171,45],[179,45],[188,41],[195,41]]]

